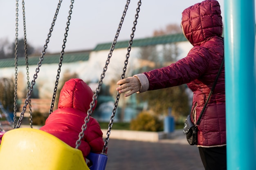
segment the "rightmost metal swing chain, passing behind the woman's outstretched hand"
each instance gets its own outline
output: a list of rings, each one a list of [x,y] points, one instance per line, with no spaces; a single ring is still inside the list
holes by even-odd
[[[128,46],[128,49],[127,49],[126,60],[124,62],[124,68],[123,68],[123,73],[122,73],[121,79],[124,79],[124,77],[125,77],[125,73],[126,73],[126,69],[127,69],[127,64],[128,64],[128,59],[130,57],[130,51],[131,51],[131,48],[132,48],[132,41],[133,41],[134,33],[135,33],[135,30],[136,30],[137,19],[139,18],[140,6],[141,6],[141,0],[139,0],[138,7],[136,9],[135,20],[133,22],[132,33],[130,35],[129,46]],[[114,105],[114,108],[113,108],[113,111],[112,111],[110,123],[108,125],[108,132],[107,132],[105,143],[104,143],[103,150],[102,150],[103,153],[106,153],[106,150],[107,150],[109,136],[110,136],[111,128],[113,126],[113,121],[115,119],[115,113],[116,113],[116,110],[117,110],[117,105],[118,105],[118,102],[119,102],[119,98],[120,98],[120,93],[117,92],[117,97],[116,97],[115,105]]]

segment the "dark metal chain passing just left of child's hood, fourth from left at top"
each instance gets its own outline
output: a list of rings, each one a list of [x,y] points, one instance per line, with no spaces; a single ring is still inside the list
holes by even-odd
[[[69,30],[69,25],[70,25],[70,20],[71,20],[71,14],[72,14],[72,9],[73,9],[73,4],[74,4],[74,0],[71,0],[71,4],[70,4],[70,11],[69,11],[69,15],[67,17],[67,27],[66,27],[66,32],[64,34],[64,40],[63,40],[63,45],[62,45],[62,51],[61,51],[61,57],[60,57],[60,62],[58,64],[58,73],[56,76],[56,82],[55,82],[55,87],[54,87],[54,92],[53,92],[53,96],[52,96],[52,104],[51,104],[51,108],[49,110],[49,115],[52,113],[52,110],[54,108],[54,102],[55,102],[55,98],[56,98],[56,93],[57,93],[57,88],[58,88],[58,79],[60,78],[60,73],[61,73],[61,66],[62,66],[62,61],[63,61],[63,55],[64,55],[64,49],[66,47],[66,42],[67,42],[67,32]]]

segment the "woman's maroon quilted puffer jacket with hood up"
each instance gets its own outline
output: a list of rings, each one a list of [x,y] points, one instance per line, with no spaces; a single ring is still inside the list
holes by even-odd
[[[182,13],[184,35],[194,46],[186,57],[170,66],[144,73],[148,90],[187,84],[193,91],[192,119],[198,119],[224,55],[222,17],[216,0],[205,0]],[[198,127],[198,146],[226,145],[225,68]]]

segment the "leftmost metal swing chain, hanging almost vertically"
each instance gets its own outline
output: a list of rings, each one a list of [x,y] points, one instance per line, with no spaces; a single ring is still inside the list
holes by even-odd
[[[16,126],[17,116],[17,86],[18,86],[18,0],[16,0],[16,38],[15,38],[15,78],[14,78],[14,103],[13,103],[13,128]]]

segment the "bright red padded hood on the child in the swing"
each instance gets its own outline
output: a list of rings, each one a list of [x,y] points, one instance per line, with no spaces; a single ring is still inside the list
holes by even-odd
[[[93,95],[92,89],[82,79],[70,79],[61,89],[58,108],[76,108],[87,113]],[[95,100],[94,108],[96,105],[97,100]]]

